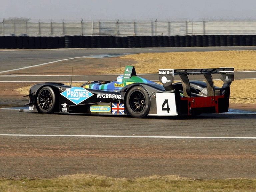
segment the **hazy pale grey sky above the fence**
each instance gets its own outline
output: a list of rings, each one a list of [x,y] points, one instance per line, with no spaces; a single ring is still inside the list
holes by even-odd
[[[85,21],[209,17],[256,20],[256,0],[2,0],[0,18],[9,17]]]

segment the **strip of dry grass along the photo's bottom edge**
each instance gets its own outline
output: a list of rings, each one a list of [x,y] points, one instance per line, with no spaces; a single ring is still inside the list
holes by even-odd
[[[177,176],[116,179],[96,175],[71,175],[54,179],[1,179],[1,192],[254,192],[256,179],[191,180]]]

